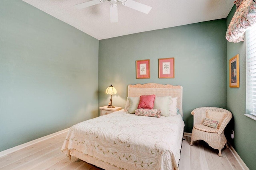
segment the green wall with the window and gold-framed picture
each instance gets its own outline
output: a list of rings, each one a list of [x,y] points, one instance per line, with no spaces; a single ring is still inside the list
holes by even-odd
[[[227,27],[236,11],[236,6],[232,8],[227,17]],[[226,68],[229,73],[229,60],[239,54],[240,87],[229,87],[229,74],[227,74],[227,109],[233,114],[230,122],[230,129],[234,129],[235,137],[228,141],[232,144],[236,152],[246,163],[250,170],[256,167],[256,121],[246,117],[246,41],[240,43],[227,42],[227,62]]]

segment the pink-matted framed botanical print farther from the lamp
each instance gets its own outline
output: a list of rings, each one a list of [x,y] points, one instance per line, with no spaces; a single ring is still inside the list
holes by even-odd
[[[158,59],[158,78],[174,78],[174,58]]]

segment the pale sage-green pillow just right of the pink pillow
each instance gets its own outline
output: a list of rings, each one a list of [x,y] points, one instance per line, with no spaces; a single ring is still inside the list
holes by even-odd
[[[169,104],[171,100],[171,96],[163,96],[163,97],[157,97],[154,101],[154,109],[161,109],[161,115],[162,116],[170,116],[169,112]]]

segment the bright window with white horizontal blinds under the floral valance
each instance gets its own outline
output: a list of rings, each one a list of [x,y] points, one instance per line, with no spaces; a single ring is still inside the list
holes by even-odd
[[[256,120],[256,25],[246,31],[245,115]]]

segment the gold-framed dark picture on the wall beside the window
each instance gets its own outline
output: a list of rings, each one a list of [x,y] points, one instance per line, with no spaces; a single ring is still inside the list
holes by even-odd
[[[239,88],[239,54],[229,60],[229,87]]]

